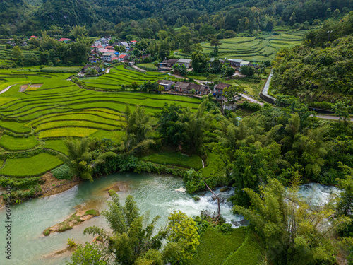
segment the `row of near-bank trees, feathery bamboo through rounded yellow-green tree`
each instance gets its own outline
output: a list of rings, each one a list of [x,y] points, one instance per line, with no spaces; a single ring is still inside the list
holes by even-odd
[[[160,216],[149,221],[148,213],[139,213],[132,196],[127,196],[125,206],[122,206],[119,196],[114,193],[108,205],[109,209],[102,215],[112,232],[97,226],[86,228],[84,233],[97,235],[102,245],[86,243],[84,247],[79,246],[68,264],[190,264],[199,239],[192,218],[174,211],[168,218],[167,227],[156,230]],[[162,251],[164,239],[167,245]]]

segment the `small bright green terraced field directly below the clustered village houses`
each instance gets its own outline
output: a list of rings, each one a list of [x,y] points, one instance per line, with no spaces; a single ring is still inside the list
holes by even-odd
[[[169,77],[167,73],[129,71],[124,66],[116,66],[109,73],[103,76],[93,78],[82,78],[88,88],[97,88],[99,90],[119,90],[121,85],[129,86],[132,82],[143,84],[145,81],[157,81],[164,77]]]

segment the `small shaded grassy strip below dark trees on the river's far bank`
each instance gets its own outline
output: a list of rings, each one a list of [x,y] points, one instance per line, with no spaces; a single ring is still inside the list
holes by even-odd
[[[197,155],[183,155],[181,153],[155,153],[142,158],[145,161],[161,165],[177,165],[179,167],[191,167],[194,170],[200,170],[202,168],[202,159]]]

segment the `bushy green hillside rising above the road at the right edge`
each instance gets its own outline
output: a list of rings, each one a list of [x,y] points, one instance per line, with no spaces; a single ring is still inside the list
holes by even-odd
[[[282,49],[273,61],[275,93],[329,105],[353,95],[353,12],[340,23],[326,21],[302,45]],[[325,101],[325,103],[323,103]]]

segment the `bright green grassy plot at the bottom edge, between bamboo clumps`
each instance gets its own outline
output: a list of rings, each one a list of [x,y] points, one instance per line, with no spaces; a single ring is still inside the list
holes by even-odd
[[[240,257],[241,254],[244,257]],[[227,233],[208,228],[201,237],[192,264],[256,265],[260,264],[259,254],[261,249],[258,242],[246,228],[237,228]]]

